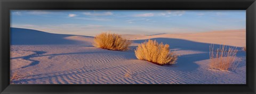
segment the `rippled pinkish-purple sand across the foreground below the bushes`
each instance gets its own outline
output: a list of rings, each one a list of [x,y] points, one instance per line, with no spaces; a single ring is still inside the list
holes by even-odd
[[[236,72],[207,69],[205,62],[193,56],[209,53],[190,53],[180,56],[180,64],[159,66],[138,60],[133,51],[118,52],[95,47],[74,45],[12,46],[18,50],[43,51],[41,54],[12,57],[28,59],[38,64],[19,70],[23,75],[16,84],[243,84],[246,83],[245,66]],[[76,48],[76,49],[74,49]],[[15,55],[14,55],[15,56]],[[182,61],[190,58],[189,62]],[[206,59],[207,60],[207,59]],[[245,62],[243,62],[245,63]],[[193,69],[187,69],[191,66]],[[239,75],[237,75],[237,73]]]

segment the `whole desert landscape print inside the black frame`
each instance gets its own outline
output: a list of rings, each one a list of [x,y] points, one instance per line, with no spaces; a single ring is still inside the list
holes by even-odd
[[[12,10],[10,83],[246,84],[245,13]]]

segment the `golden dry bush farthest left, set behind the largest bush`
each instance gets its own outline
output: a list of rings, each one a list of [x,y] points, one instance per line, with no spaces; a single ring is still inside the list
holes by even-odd
[[[94,37],[93,46],[109,50],[127,50],[132,41],[122,38],[115,33],[103,32]]]

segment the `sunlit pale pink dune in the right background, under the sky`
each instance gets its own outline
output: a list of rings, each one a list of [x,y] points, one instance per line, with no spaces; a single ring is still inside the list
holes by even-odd
[[[175,38],[185,39],[195,42],[203,42],[208,44],[224,44],[229,46],[245,47],[246,45],[246,31],[241,30],[223,30],[211,31],[201,33],[175,33],[175,34],[161,34],[155,36],[146,35],[123,35],[125,38],[133,40],[151,39],[151,38]]]

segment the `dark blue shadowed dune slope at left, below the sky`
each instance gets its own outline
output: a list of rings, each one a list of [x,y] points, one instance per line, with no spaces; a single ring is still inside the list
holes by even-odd
[[[75,35],[62,35],[22,28],[11,28],[10,30],[11,45],[70,45],[76,43],[74,40],[65,39],[65,37]]]

